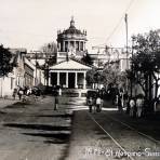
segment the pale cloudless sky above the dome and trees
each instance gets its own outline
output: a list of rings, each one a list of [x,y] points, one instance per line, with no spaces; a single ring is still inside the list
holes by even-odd
[[[0,0],[0,43],[6,48],[39,50],[56,42],[58,29],[88,31],[89,51],[94,45],[125,45],[124,14],[131,36],[160,28],[160,0]]]

